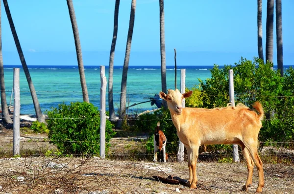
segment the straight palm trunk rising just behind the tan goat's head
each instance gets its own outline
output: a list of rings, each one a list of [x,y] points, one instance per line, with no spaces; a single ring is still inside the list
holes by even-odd
[[[166,52],[164,38],[164,3],[159,0],[159,22],[160,22],[160,59],[161,59],[161,90],[167,91],[167,76],[166,76]],[[168,108],[168,104],[163,100],[163,107]]]

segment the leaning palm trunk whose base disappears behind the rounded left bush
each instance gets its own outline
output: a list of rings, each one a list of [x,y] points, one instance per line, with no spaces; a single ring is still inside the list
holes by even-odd
[[[68,4],[71,23],[72,23],[72,27],[73,27],[73,37],[74,37],[78,71],[79,71],[79,75],[80,75],[80,82],[81,82],[82,92],[83,92],[83,100],[84,100],[84,102],[89,103],[90,101],[89,101],[88,89],[87,89],[86,78],[85,78],[85,71],[84,71],[84,64],[83,64],[83,57],[82,57],[82,48],[81,48],[81,43],[79,40],[78,28],[77,28],[77,23],[76,23],[76,19],[75,19],[73,0],[67,0],[67,4]]]

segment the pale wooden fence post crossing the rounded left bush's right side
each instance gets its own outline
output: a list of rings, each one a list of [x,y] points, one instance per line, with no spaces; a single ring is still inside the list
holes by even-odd
[[[106,84],[105,66],[100,66],[100,158],[105,158]]]

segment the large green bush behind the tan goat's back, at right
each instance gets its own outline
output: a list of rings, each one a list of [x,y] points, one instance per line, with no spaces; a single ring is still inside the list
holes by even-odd
[[[226,106],[229,102],[228,70],[234,71],[235,104],[249,108],[260,101],[266,117],[260,130],[261,141],[293,141],[294,137],[294,69],[289,68],[284,78],[279,70],[272,70],[272,63],[241,58],[235,66],[214,65],[212,77],[200,81],[204,108]]]

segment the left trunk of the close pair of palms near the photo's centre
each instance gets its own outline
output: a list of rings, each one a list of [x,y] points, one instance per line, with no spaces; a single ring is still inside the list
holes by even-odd
[[[120,0],[115,1],[114,8],[114,24],[113,24],[113,37],[110,48],[110,56],[109,56],[109,79],[108,79],[108,107],[109,107],[109,119],[111,121],[115,121],[115,112],[113,106],[113,62],[114,62],[114,51],[116,40],[118,36],[118,22],[119,22],[119,7]]]

